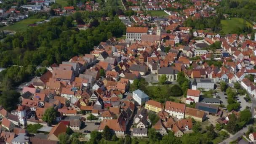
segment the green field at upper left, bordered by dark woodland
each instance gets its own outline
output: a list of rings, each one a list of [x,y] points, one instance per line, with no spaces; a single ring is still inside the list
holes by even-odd
[[[14,23],[11,26],[1,27],[0,30],[24,31],[29,27],[28,24],[35,24],[36,22],[43,20],[45,19],[24,19],[22,21]]]

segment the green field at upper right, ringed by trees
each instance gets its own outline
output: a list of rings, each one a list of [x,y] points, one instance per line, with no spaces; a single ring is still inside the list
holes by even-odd
[[[243,18],[230,18],[226,20],[221,20],[221,24],[222,24],[222,31],[225,34],[232,33],[234,29],[237,29],[237,27],[241,28],[243,27],[244,24],[246,24],[249,27],[253,27],[251,23],[249,23]]]

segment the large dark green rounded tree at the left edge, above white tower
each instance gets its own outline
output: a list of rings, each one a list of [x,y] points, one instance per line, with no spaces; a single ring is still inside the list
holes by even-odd
[[[3,91],[0,97],[0,105],[8,112],[11,112],[13,109],[16,109],[20,96],[21,94],[15,90]]]

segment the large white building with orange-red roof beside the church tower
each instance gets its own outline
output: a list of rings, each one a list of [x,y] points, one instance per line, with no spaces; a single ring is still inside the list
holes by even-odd
[[[147,35],[148,27],[127,27],[126,39],[133,41],[141,40],[141,35]]]

